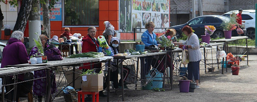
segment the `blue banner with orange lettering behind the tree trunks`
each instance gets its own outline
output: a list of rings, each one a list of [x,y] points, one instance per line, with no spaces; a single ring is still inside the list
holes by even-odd
[[[43,20],[43,8],[41,7],[40,12],[40,18]],[[54,4],[54,8],[51,9],[50,15],[50,21],[61,21],[62,20],[62,1],[56,1]]]

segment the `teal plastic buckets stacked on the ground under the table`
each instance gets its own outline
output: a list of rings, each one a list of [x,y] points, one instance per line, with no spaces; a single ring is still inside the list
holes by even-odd
[[[151,90],[153,88],[162,88],[163,80],[162,80],[163,73],[160,73],[157,69],[152,69],[149,73],[145,76],[146,81],[149,81],[147,85],[142,86],[142,89]]]

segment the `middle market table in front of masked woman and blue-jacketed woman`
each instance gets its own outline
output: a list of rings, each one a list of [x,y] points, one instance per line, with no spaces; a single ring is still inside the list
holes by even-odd
[[[136,74],[137,74],[138,73],[138,66],[139,66],[139,63],[138,63],[139,58],[147,57],[147,56],[165,55],[166,53],[167,52],[148,52],[147,54],[142,54],[142,55],[113,56],[113,59],[120,59],[121,63],[119,64],[119,67],[123,68],[123,60],[137,57],[137,72],[136,72]],[[166,55],[164,57],[165,57],[165,66],[166,66]],[[141,69],[144,68],[142,66],[144,66],[144,65],[141,64]],[[164,69],[166,69],[166,68],[164,68]],[[165,72],[165,70],[164,70],[164,72]],[[163,86],[162,87],[164,88],[165,75],[163,75],[163,76],[164,76],[164,78],[163,78]],[[123,79],[123,70],[121,70],[120,78],[121,78],[121,80],[124,80]],[[122,89],[121,89],[122,90],[122,101],[124,101],[124,83],[123,83],[123,81],[121,81],[121,82],[122,82],[121,83],[121,85],[122,85]],[[110,89],[110,86],[107,86],[107,87],[108,87],[108,89]],[[136,84],[136,87],[137,87],[137,84]]]

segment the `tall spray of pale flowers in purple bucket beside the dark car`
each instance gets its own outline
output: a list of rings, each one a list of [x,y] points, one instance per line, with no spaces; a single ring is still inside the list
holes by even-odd
[[[238,25],[236,19],[238,19],[238,17],[236,17],[236,14],[231,13],[229,21],[221,23],[221,27],[223,28],[225,38],[231,38],[232,30],[236,29]]]

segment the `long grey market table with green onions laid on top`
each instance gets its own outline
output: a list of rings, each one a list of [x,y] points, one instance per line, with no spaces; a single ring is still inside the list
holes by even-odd
[[[5,67],[9,68],[0,68],[0,70],[4,70],[5,72],[9,72],[10,74],[0,73],[0,76],[7,76],[7,75],[18,75],[21,72],[31,72],[35,70],[42,70],[42,69],[49,69],[49,68],[56,68],[58,66],[73,66],[73,72],[75,71],[75,66],[81,66],[83,63],[90,63],[90,62],[100,62],[100,61],[109,61],[112,59],[112,57],[102,57],[102,58],[63,58],[61,61],[48,61],[47,63],[41,63],[41,64],[18,64],[18,65],[9,65]],[[36,66],[36,67],[35,67]],[[19,68],[19,70],[14,71],[13,68]],[[110,66],[108,66],[110,68]],[[13,71],[13,72],[12,72]],[[50,82],[50,75],[49,70],[47,72],[47,81],[48,84],[51,84]],[[108,73],[110,73],[108,71]],[[75,73],[73,73],[73,86],[75,86]],[[14,85],[16,85],[15,83]],[[4,86],[4,85],[3,85]],[[6,85],[5,85],[6,86]],[[50,101],[51,99],[51,85],[48,85],[47,87],[48,93],[46,101]],[[108,94],[109,95],[109,94]]]

